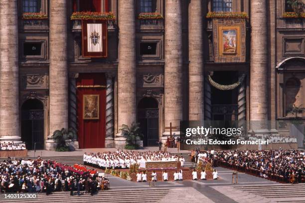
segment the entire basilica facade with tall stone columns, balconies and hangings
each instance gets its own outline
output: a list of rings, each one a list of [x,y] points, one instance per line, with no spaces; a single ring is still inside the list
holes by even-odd
[[[302,6],[1,0],[0,141],[52,149],[70,128],[79,148],[123,147],[139,122],[151,146],[180,120],[289,120],[305,107]]]

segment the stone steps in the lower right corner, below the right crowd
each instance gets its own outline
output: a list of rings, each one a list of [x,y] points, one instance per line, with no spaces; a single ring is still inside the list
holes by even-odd
[[[279,203],[305,203],[305,184],[234,186],[235,189]]]

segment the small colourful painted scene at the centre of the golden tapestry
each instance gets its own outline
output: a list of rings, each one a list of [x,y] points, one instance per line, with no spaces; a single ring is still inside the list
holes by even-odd
[[[223,54],[236,54],[237,30],[222,30]]]

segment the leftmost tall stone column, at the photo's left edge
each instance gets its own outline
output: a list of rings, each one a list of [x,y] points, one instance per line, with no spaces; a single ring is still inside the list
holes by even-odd
[[[20,142],[17,0],[0,1],[0,141]]]

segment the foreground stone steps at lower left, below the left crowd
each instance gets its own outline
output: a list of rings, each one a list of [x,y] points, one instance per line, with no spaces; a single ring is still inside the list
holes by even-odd
[[[0,203],[156,203],[174,189],[146,188],[99,191],[97,195],[70,196],[70,192],[55,192],[52,195],[38,194],[36,199],[8,200],[1,194]],[[75,194],[75,192],[74,192]]]

